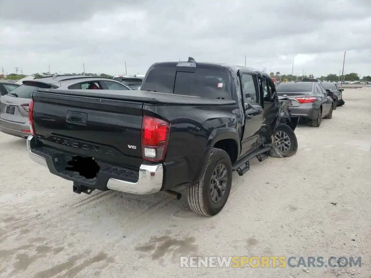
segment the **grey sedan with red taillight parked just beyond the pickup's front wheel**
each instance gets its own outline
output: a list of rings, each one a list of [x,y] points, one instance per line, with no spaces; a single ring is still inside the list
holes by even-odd
[[[280,98],[291,100],[291,114],[299,116],[301,120],[309,120],[312,126],[319,127],[322,118],[332,118],[332,98],[320,83],[286,82],[278,85],[276,90]]]

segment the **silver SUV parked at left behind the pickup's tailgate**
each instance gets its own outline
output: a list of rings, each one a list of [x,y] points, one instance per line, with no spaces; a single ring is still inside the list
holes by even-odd
[[[41,88],[130,90],[124,84],[105,77],[50,76],[24,80],[23,85],[1,97],[1,132],[21,138],[27,138],[31,134],[28,122],[29,103],[32,92]]]

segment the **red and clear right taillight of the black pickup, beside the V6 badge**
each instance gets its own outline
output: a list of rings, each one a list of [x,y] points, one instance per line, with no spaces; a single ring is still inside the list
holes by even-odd
[[[143,160],[160,161],[164,159],[169,136],[170,123],[144,115],[142,122]]]

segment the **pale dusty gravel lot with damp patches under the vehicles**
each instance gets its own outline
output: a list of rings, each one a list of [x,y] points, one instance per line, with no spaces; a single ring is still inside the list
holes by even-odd
[[[186,198],[75,194],[32,163],[25,140],[0,134],[0,277],[369,278],[371,91],[346,89],[344,100],[320,128],[298,127],[295,156],[234,172],[213,218]],[[180,268],[181,255],[361,256],[362,267]]]

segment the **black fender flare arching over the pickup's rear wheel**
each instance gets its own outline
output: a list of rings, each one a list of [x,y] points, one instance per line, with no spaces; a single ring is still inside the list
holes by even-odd
[[[211,149],[215,145],[216,142],[223,140],[223,139],[233,139],[237,143],[237,157],[241,152],[241,142],[239,133],[235,128],[218,128],[214,129],[207,139],[206,146],[204,149],[204,153],[201,157],[200,163],[198,164],[196,175],[192,181],[192,184],[197,183],[201,180],[201,177],[205,171],[207,161],[209,160]]]

